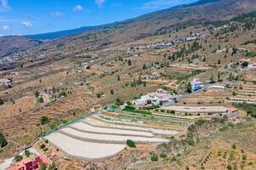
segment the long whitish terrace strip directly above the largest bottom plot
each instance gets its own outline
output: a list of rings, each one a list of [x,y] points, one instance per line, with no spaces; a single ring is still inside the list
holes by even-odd
[[[64,128],[61,129],[61,133],[66,134],[67,136],[71,136],[73,138],[81,139],[81,140],[92,140],[92,141],[101,141],[101,142],[112,142],[112,143],[120,143],[125,144],[127,139],[131,139],[135,142],[143,142],[143,143],[162,143],[168,142],[166,139],[160,138],[146,138],[146,137],[137,137],[137,136],[122,136],[122,135],[110,135],[110,134],[94,134],[94,133],[83,133],[72,128]]]

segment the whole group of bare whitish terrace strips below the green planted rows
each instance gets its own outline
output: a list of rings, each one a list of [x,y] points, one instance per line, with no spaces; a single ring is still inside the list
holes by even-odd
[[[49,144],[53,144],[68,156],[102,159],[124,150],[127,139],[133,140],[136,144],[160,144],[168,142],[168,139],[159,137],[158,134],[171,137],[178,133],[135,122],[105,121],[99,115],[96,117],[90,116],[81,122],[63,127],[44,139],[48,139]]]

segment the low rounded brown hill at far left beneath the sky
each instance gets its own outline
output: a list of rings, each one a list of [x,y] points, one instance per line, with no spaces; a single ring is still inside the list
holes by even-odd
[[[39,41],[20,36],[0,37],[0,57],[40,44]]]

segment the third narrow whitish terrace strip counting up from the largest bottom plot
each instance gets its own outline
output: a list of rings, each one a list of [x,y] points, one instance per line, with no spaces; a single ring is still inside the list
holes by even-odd
[[[132,130],[122,130],[122,129],[113,129],[108,127],[93,127],[88,124],[85,124],[84,122],[77,122],[70,127],[74,127],[78,130],[84,131],[84,132],[92,132],[92,133],[111,133],[111,134],[125,134],[125,135],[139,135],[139,136],[148,136],[153,137],[154,134],[149,132],[138,132],[138,131],[132,131]]]

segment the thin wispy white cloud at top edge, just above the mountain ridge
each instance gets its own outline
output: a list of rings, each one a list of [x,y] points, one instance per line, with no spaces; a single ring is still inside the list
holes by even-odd
[[[159,9],[159,8],[169,8],[180,4],[186,4],[195,2],[195,0],[153,0],[148,3],[144,3],[141,7],[142,9]]]

